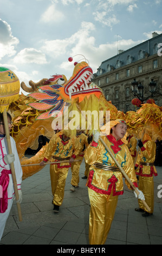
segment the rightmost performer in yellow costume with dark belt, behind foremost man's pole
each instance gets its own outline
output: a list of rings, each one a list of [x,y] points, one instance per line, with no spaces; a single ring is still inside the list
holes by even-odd
[[[136,174],[139,175],[139,189],[144,193],[145,201],[150,207],[151,211],[148,212],[145,206],[139,201],[139,208],[135,211],[144,212],[142,216],[147,217],[153,214],[154,208],[154,181],[153,175],[157,176],[157,170],[154,166],[156,144],[152,141],[151,137],[145,133],[142,141],[139,141],[139,155],[135,163]]]

